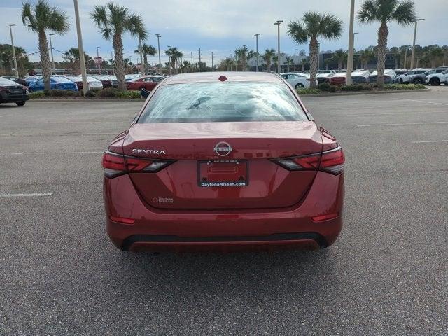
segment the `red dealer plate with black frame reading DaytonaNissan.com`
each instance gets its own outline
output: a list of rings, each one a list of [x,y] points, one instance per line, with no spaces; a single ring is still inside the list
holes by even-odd
[[[216,165],[219,168],[220,165],[223,168],[232,170],[232,165],[235,165],[235,179],[222,179],[221,181],[216,179],[209,179],[211,176],[211,165]],[[207,170],[207,176],[204,176],[204,171]],[[214,174],[213,172],[211,174]],[[220,173],[215,173],[219,175]],[[228,174],[232,177],[232,172],[223,172],[221,175]],[[238,178],[237,178],[238,175]],[[204,177],[207,179],[204,181]],[[241,179],[242,177],[242,179]],[[197,162],[197,186],[202,188],[221,188],[221,187],[246,187],[249,185],[249,167],[248,160],[200,160]]]

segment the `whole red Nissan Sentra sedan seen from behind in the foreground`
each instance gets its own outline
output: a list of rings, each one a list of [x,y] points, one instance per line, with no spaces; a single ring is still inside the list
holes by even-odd
[[[270,73],[163,80],[102,164],[123,250],[318,248],[342,229],[344,153]]]

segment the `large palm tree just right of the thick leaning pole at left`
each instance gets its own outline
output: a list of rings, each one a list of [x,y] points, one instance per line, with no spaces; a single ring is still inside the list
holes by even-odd
[[[130,13],[129,8],[109,2],[104,6],[94,6],[90,13],[94,24],[99,28],[106,41],[112,40],[115,53],[115,72],[118,88],[126,90],[125,62],[123,62],[123,34],[129,32],[134,38],[146,39],[148,32],[145,29],[141,15]]]

